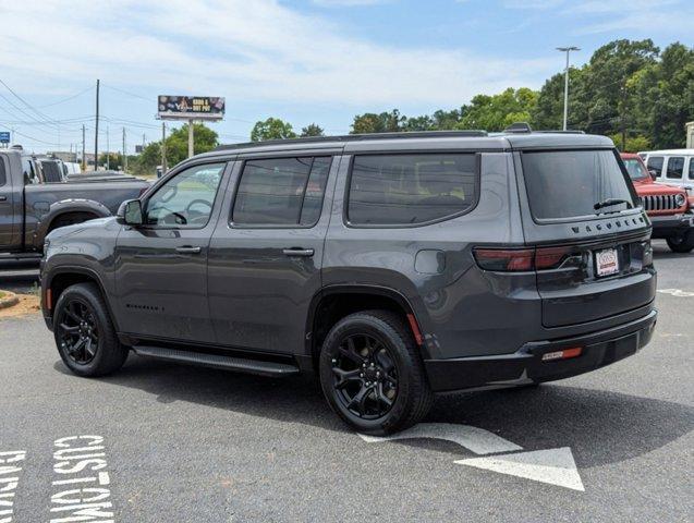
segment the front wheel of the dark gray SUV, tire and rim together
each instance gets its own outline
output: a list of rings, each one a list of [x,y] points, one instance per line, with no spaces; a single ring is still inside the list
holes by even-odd
[[[78,376],[105,376],[127,358],[129,349],[119,342],[95,283],[77,283],[63,291],[53,313],[53,337],[63,363]]]

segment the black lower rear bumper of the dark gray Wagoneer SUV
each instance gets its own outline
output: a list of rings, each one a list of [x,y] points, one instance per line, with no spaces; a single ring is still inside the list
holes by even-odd
[[[509,387],[552,381],[588,373],[635,354],[653,336],[658,313],[611,329],[562,340],[526,343],[513,354],[454,360],[426,360],[431,388],[437,392],[479,387]],[[581,346],[570,360],[543,362],[548,352]]]

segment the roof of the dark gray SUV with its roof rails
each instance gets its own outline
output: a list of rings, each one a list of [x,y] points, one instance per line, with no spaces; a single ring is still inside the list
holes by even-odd
[[[409,133],[351,134],[346,136],[320,136],[311,138],[277,139],[245,144],[222,145],[199,155],[219,157],[247,153],[277,153],[282,150],[344,149],[350,151],[376,150],[510,150],[543,148],[604,148],[614,147],[606,136],[577,132],[503,132],[485,131],[426,131]]]

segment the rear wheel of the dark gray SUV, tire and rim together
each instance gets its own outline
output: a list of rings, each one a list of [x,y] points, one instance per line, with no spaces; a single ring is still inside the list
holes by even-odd
[[[357,348],[360,339],[363,348]],[[434,402],[412,332],[403,318],[388,311],[365,311],[339,320],[322,344],[319,377],[332,410],[363,434],[411,427]]]

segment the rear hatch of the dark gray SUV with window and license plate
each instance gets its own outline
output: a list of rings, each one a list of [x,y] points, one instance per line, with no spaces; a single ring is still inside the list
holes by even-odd
[[[649,222],[616,151],[525,150],[516,159],[543,324],[583,324],[653,302]]]

